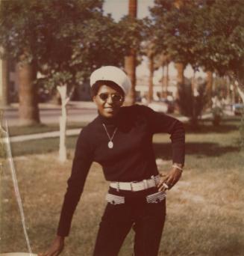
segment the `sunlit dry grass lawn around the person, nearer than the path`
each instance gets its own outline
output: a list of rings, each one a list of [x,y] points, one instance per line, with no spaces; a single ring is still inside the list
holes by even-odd
[[[244,255],[244,153],[237,124],[213,128],[206,123],[197,132],[187,127],[186,165],[181,180],[168,192],[159,255]],[[75,140],[67,139],[69,160],[63,165],[57,161],[57,138],[12,144],[34,252],[45,251],[55,235]],[[171,165],[169,142],[168,135],[154,136],[155,154],[163,159],[161,172]],[[1,252],[26,252],[7,164],[0,185]],[[63,255],[92,255],[106,192],[101,167],[93,163]],[[119,256],[132,255],[132,247],[131,231]]]

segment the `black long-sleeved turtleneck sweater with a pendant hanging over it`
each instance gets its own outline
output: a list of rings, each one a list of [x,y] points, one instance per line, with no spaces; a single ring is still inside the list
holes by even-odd
[[[107,146],[114,130],[113,148]],[[146,106],[119,109],[115,118],[101,115],[81,130],[72,163],[72,174],[63,201],[57,234],[68,236],[72,216],[93,161],[101,164],[109,181],[137,181],[157,175],[152,137],[168,132],[172,140],[172,161],[184,165],[184,128],[180,121],[154,112]]]

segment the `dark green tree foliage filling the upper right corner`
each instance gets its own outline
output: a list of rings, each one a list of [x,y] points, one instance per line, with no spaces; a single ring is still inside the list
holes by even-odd
[[[240,76],[243,11],[242,0],[156,0],[151,14],[158,50],[195,69]]]

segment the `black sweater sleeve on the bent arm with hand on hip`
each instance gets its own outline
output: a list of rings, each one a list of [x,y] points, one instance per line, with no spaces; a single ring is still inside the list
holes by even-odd
[[[172,161],[184,165],[185,131],[181,121],[163,113],[154,112],[147,106],[141,106],[148,120],[151,132],[167,132],[172,141]]]

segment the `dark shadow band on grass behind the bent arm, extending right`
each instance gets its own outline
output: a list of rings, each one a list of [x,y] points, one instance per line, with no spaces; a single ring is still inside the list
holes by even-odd
[[[225,153],[239,152],[238,146],[221,146],[212,142],[187,142],[187,155],[201,155],[201,156],[222,156]],[[156,157],[163,159],[172,158],[171,144],[154,143],[154,152]]]

